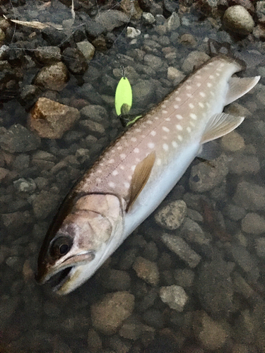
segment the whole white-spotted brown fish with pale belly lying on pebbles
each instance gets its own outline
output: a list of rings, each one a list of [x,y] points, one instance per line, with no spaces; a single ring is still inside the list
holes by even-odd
[[[66,196],[37,261],[36,280],[68,294],[83,285],[160,205],[208,141],[244,116],[223,112],[260,76],[234,77],[244,65],[223,54],[209,59],[125,131]]]

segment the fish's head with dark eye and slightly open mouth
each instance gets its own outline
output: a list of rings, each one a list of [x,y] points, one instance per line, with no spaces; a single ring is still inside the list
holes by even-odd
[[[123,210],[117,196],[90,194],[78,198],[64,217],[57,215],[40,250],[37,282],[55,278],[57,294],[68,294],[86,282],[108,250],[119,244]]]

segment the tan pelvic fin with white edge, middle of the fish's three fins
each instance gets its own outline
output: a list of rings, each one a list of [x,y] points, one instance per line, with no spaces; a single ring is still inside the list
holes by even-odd
[[[208,121],[204,135],[201,138],[201,144],[216,138],[222,137],[233,131],[244,120],[243,116],[233,116],[231,114],[214,114]]]

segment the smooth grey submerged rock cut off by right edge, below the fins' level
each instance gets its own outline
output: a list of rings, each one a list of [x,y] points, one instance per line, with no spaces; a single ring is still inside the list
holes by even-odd
[[[246,210],[265,210],[265,188],[242,181],[237,185],[233,201]]]

